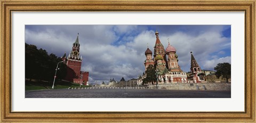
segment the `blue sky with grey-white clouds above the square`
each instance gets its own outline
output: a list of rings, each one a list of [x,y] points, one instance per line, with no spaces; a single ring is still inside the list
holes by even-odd
[[[179,65],[190,71],[190,51],[202,69],[231,63],[230,25],[26,25],[25,42],[62,56],[71,51],[79,32],[82,71],[89,83],[108,83],[137,78],[145,71],[147,43],[154,53],[155,31],[164,48],[170,44],[179,55]]]

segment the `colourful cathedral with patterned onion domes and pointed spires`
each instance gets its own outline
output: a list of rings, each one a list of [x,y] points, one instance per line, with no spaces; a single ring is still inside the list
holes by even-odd
[[[146,60],[145,71],[149,65],[153,65],[156,69],[158,76],[158,84],[161,83],[206,83],[205,75],[202,73],[201,68],[196,62],[194,55],[191,53],[191,73],[187,77],[186,72],[183,72],[179,65],[178,54],[176,49],[170,45],[164,50],[164,46],[159,39],[158,31],[155,32],[156,43],[154,46],[154,58],[152,59],[152,51],[147,48],[145,55]],[[147,75],[143,76],[145,78]]]

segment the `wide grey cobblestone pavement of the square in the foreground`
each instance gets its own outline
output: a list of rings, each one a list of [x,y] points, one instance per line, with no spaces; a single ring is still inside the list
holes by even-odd
[[[186,91],[170,89],[73,88],[26,91],[26,98],[230,98],[231,91]]]

